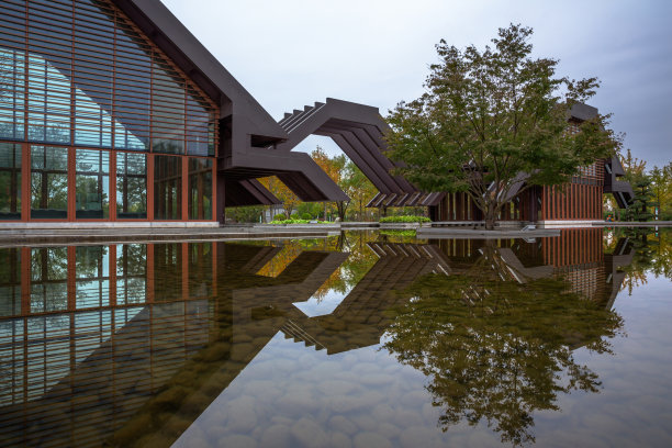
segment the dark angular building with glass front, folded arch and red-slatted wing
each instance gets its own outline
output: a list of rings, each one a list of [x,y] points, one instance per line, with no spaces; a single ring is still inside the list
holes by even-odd
[[[369,206],[479,219],[464,198],[391,173],[376,108],[327,99],[276,122],[159,0],[5,0],[0,24],[0,225],[217,225],[226,206],[280,203],[257,180],[271,175],[303,201],[347,200],[292,152],[310,134],[378,188]],[[598,219],[602,192],[625,188],[608,165],[570,193],[514,198],[503,219]],[[590,208],[570,210],[584,194]]]

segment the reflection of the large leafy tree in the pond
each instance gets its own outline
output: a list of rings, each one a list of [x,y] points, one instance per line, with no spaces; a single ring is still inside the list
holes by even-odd
[[[598,391],[600,378],[572,351],[611,352],[623,320],[560,280],[502,280],[491,257],[481,260],[404,291],[410,300],[393,310],[383,347],[429,378],[444,430],[486,422],[504,443],[533,444],[535,411],[559,411],[558,395],[572,390]]]

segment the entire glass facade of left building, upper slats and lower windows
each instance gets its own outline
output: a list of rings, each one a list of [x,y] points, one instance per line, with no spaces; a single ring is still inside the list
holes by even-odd
[[[0,220],[214,217],[219,108],[111,1],[3,0],[0,25]]]

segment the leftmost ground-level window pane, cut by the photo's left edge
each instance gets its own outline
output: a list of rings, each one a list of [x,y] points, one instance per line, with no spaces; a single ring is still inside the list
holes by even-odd
[[[21,145],[0,143],[0,220],[21,220]]]

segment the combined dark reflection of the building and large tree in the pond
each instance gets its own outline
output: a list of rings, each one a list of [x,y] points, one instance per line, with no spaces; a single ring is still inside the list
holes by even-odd
[[[327,356],[382,338],[427,376],[444,428],[485,419],[531,441],[536,410],[598,388],[572,350],[608,350],[631,256],[591,229],[3,248],[0,444],[169,446],[278,334]],[[328,314],[294,305],[326,294]]]

